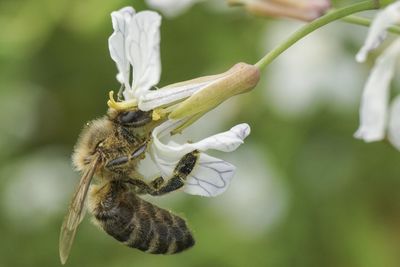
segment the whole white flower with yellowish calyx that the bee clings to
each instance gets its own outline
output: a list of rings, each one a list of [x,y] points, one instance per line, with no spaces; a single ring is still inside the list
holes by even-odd
[[[235,150],[249,135],[249,125],[239,124],[227,132],[213,135],[197,143],[178,145],[171,141],[163,143],[161,140],[169,137],[173,130],[190,121],[197,113],[202,114],[232,94],[254,87],[254,81],[258,81],[258,70],[254,71],[255,67],[248,67],[250,65],[238,64],[222,74],[150,90],[158,83],[161,74],[159,49],[161,17],[152,11],[135,13],[131,7],[112,12],[111,16],[114,33],[109,39],[110,54],[117,64],[119,71],[117,80],[123,86],[122,93],[125,100],[111,101],[110,107],[137,106],[144,111],[163,108],[168,114],[177,111],[178,114],[175,114],[175,117],[179,118],[178,120],[166,120],[153,130],[152,144],[148,151],[151,159],[161,176],[168,179],[185,154],[198,150],[200,151],[198,162],[187,178],[183,190],[189,194],[202,196],[215,196],[224,192],[234,174],[235,167],[203,152],[209,149],[224,152]],[[250,71],[247,71],[249,69]],[[209,92],[210,88],[211,92]],[[229,91],[226,91],[226,88]],[[202,96],[202,91],[207,92],[207,97]],[[177,106],[177,103],[187,98],[189,98],[187,100],[189,104],[185,102],[181,104],[185,104],[183,109],[189,111],[184,113],[189,115],[180,116],[182,107]],[[202,105],[202,100],[208,103],[208,106]],[[191,109],[190,106],[193,105],[197,109]]]

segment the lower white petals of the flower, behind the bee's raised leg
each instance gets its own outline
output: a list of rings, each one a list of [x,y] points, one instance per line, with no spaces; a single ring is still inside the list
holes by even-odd
[[[170,131],[180,125],[182,121],[167,121],[154,129],[151,155],[161,171],[161,175],[171,177],[179,160],[193,150],[200,152],[215,149],[231,152],[243,143],[250,134],[248,124],[239,124],[224,133],[216,134],[196,143],[178,145],[174,142],[164,144],[160,138],[169,135]],[[199,161],[189,175],[185,192],[202,196],[215,196],[225,191],[234,174],[235,167],[223,160],[200,153]]]

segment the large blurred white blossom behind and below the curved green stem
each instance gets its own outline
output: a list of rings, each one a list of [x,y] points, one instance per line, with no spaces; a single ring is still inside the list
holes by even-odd
[[[262,49],[285,39],[298,26],[299,23],[288,21],[271,23]],[[355,67],[338,36],[349,40],[357,37],[357,33],[339,26],[332,25],[306,36],[271,65],[266,78],[268,88],[262,89],[268,106],[289,117],[308,115],[321,106],[335,112],[354,109],[363,72]]]

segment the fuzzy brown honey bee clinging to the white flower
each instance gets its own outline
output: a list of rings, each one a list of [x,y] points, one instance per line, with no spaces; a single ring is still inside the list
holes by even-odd
[[[169,179],[158,177],[146,182],[137,166],[145,158],[152,130],[162,122],[152,120],[152,111],[110,108],[106,116],[84,128],[72,156],[73,164],[83,175],[61,226],[59,249],[63,264],[84,217],[86,198],[95,222],[129,247],[173,254],[194,245],[184,219],[139,197],[181,188],[199,157],[198,151],[190,152],[181,158]]]

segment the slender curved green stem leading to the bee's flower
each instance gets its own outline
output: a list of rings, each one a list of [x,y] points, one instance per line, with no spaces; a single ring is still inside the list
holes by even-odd
[[[386,4],[386,2],[385,2]],[[283,53],[285,50],[287,50],[289,47],[291,47],[293,44],[295,44],[297,41],[299,41],[301,38],[304,36],[308,35],[309,33],[315,31],[318,28],[321,28],[322,26],[331,23],[332,21],[341,19],[343,17],[349,16],[351,14],[364,11],[364,10],[370,10],[370,9],[378,9],[381,7],[381,4],[377,0],[369,0],[369,1],[363,1],[357,4],[349,5],[347,7],[343,7],[340,9],[336,9],[332,12],[327,13],[326,15],[310,22],[307,25],[304,25],[302,28],[297,30],[295,33],[292,34],[285,42],[281,43],[277,47],[275,47],[272,51],[270,51],[268,54],[266,54],[260,61],[258,61],[255,65],[259,68],[262,69],[268,64],[270,64],[276,57],[278,57],[281,53]]]

